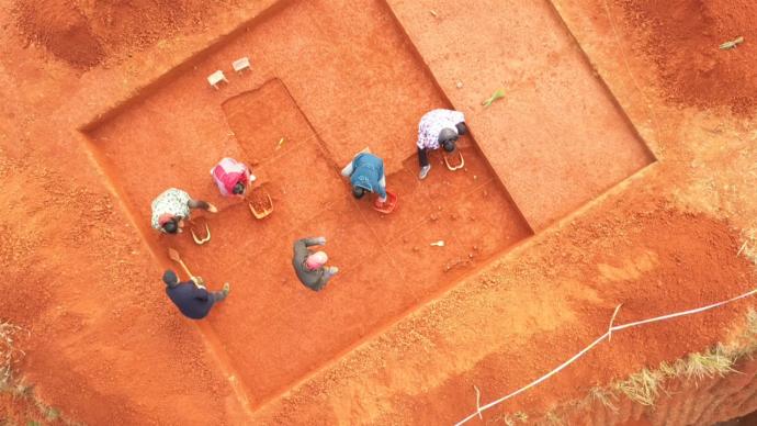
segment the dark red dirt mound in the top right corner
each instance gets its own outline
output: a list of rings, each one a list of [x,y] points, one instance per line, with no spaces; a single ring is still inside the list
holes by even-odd
[[[757,105],[757,3],[750,0],[618,0],[629,32],[643,31],[667,98],[699,108],[730,107],[739,115]],[[720,51],[743,36],[737,48]]]

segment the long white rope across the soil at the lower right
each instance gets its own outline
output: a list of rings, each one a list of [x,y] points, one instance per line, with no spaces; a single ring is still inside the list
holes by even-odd
[[[757,294],[757,289],[754,289],[754,290],[752,290],[752,291],[749,291],[749,292],[747,292],[747,293],[744,293],[744,294],[739,294],[739,295],[737,295],[737,296],[735,296],[735,298],[731,298],[731,299],[728,299],[728,300],[726,300],[726,301],[723,301],[723,302],[713,303],[713,304],[710,304],[710,305],[707,305],[707,306],[702,306],[702,307],[697,307],[697,309],[693,309],[693,310],[681,311],[681,312],[677,312],[677,313],[673,313],[673,314],[668,314],[668,315],[656,316],[656,317],[654,317],[654,318],[648,318],[648,320],[643,320],[643,321],[636,321],[636,322],[633,322],[633,323],[628,323],[628,324],[618,325],[618,326],[612,326],[612,324],[611,324],[611,325],[610,325],[610,328],[609,328],[603,335],[601,335],[601,336],[598,337],[596,340],[594,340],[589,346],[587,346],[586,348],[584,348],[580,352],[574,355],[573,357],[570,357],[570,359],[568,359],[567,361],[561,363],[561,365],[560,365],[557,368],[555,368],[554,370],[552,370],[552,371],[550,371],[549,373],[542,375],[541,378],[539,378],[539,379],[532,381],[531,383],[527,384],[526,386],[523,386],[523,388],[521,388],[521,389],[519,389],[519,390],[517,390],[517,391],[515,391],[515,392],[511,392],[511,393],[509,393],[509,394],[507,394],[507,395],[500,397],[499,400],[493,401],[493,402],[490,402],[490,403],[488,403],[488,404],[486,404],[486,405],[483,405],[483,406],[481,406],[481,405],[479,405],[479,402],[476,401],[476,411],[475,411],[474,413],[472,413],[471,415],[468,415],[467,417],[463,418],[462,421],[455,423],[455,426],[463,425],[463,424],[470,422],[472,418],[474,418],[474,417],[476,417],[476,416],[481,417],[481,416],[482,416],[482,412],[484,412],[484,411],[486,411],[486,410],[488,410],[488,408],[492,408],[492,407],[495,406],[495,405],[501,404],[502,402],[505,402],[505,401],[507,401],[507,400],[509,400],[509,399],[511,399],[511,397],[513,397],[513,396],[516,396],[516,395],[518,395],[518,394],[520,394],[520,393],[522,393],[522,392],[526,392],[527,390],[529,390],[529,389],[531,389],[531,388],[538,385],[539,383],[545,381],[546,379],[551,378],[552,375],[558,373],[558,372],[560,372],[561,370],[563,370],[565,367],[569,366],[570,363],[573,363],[574,361],[576,361],[578,358],[580,358],[580,357],[583,357],[584,355],[586,355],[586,352],[588,352],[589,350],[591,350],[595,346],[599,345],[602,340],[605,340],[606,338],[609,338],[610,335],[612,334],[612,332],[618,332],[618,330],[625,329],[625,328],[636,327],[636,326],[644,325],[644,324],[648,324],[648,323],[654,323],[654,322],[659,322],[659,321],[666,321],[666,320],[675,318],[675,317],[678,317],[678,316],[698,314],[698,313],[700,313],[700,312],[709,311],[709,310],[712,310],[712,309],[715,309],[715,307],[719,307],[719,306],[722,306],[722,305],[725,305],[725,304],[728,304],[728,303],[733,303],[733,302],[735,302],[735,301],[737,301],[737,300],[745,299],[745,298],[752,296],[752,295],[754,295],[754,294]],[[618,309],[619,309],[619,307],[620,307],[620,305],[618,305],[618,307],[615,307],[614,314],[618,313]],[[614,314],[613,314],[613,317],[612,317],[612,320],[611,320],[611,323],[612,323],[612,321],[614,321]]]

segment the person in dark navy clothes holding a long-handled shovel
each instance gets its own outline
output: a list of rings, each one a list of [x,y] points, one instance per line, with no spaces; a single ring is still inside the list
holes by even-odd
[[[211,312],[213,305],[228,296],[230,285],[224,284],[222,291],[210,292],[205,288],[205,281],[200,277],[190,277],[188,281],[179,282],[176,272],[168,269],[163,272],[166,294],[181,311],[184,316],[192,320],[202,320]]]

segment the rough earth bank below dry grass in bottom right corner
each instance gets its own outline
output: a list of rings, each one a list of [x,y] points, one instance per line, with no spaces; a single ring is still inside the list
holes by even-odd
[[[625,396],[608,406],[589,397],[554,413],[567,425],[714,425],[757,411],[757,360],[746,359],[734,368],[736,372],[724,377],[667,380],[653,406]]]

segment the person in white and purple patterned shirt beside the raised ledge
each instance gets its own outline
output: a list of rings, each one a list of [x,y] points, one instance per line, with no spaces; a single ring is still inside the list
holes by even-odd
[[[441,146],[445,152],[452,153],[457,138],[466,133],[465,115],[460,111],[439,109],[423,114],[418,124],[418,142],[416,143],[420,164],[418,178],[426,179],[431,170],[429,150],[439,149]]]

